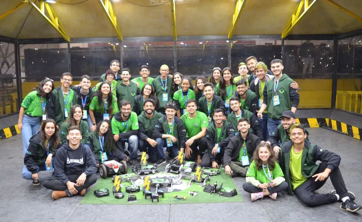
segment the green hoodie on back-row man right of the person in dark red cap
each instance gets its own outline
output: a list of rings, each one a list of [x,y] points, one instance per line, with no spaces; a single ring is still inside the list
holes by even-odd
[[[116,97],[118,103],[118,109],[121,110],[121,102],[123,100],[128,100],[133,105],[136,95],[141,94],[141,91],[138,89],[137,84],[135,82],[130,81],[130,84],[126,86],[121,82],[116,86]],[[133,106],[132,106],[133,111]]]

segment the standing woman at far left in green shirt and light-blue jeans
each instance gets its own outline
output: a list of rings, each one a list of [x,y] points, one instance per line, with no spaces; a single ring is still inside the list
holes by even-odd
[[[24,155],[28,150],[30,138],[39,132],[41,121],[47,119],[47,104],[53,89],[54,81],[45,77],[37,89],[28,93],[21,103],[18,129],[21,131]]]

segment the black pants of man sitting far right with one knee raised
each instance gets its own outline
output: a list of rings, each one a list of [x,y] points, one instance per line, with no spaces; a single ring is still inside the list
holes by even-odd
[[[319,174],[323,172],[327,168],[327,162],[322,162],[315,174]],[[334,189],[336,189],[337,194],[342,197],[347,197],[348,192],[346,185],[344,184],[344,180],[342,178],[341,171],[339,167],[335,168],[330,174],[329,178],[331,178],[332,185]],[[323,181],[315,182],[316,178],[308,178],[302,184],[300,184],[297,188],[295,188],[294,192],[296,196],[307,206],[319,206],[323,204],[330,204],[337,201],[337,197],[334,194],[330,193],[322,193],[315,194],[314,192],[321,188],[328,178]]]

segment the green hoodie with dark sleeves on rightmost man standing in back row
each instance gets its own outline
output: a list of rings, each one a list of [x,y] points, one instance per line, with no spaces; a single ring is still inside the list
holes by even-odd
[[[293,80],[289,78],[287,74],[283,74],[283,76],[279,79],[277,88],[280,104],[274,106],[274,79],[269,80],[265,84],[263,91],[263,103],[268,106],[268,118],[280,119],[284,111],[291,110],[292,107],[298,107],[299,94],[295,89],[290,87],[290,84],[293,82]]]

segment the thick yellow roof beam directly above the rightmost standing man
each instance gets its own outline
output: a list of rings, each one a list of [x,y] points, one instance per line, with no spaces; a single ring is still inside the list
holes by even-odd
[[[289,35],[291,30],[294,28],[294,26],[300,21],[300,19],[312,8],[312,6],[316,3],[318,0],[313,0],[312,3],[310,3],[308,0],[300,0],[299,4],[296,5],[294,12],[292,16],[290,17],[283,33],[282,38],[284,39]],[[304,5],[304,7],[303,7]],[[300,12],[302,11],[302,14]]]

